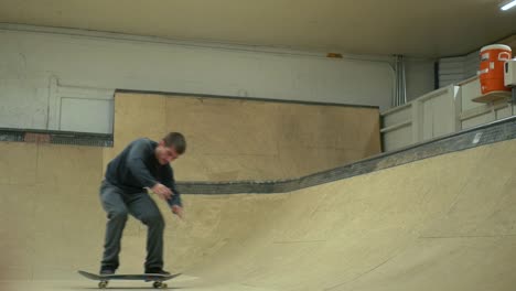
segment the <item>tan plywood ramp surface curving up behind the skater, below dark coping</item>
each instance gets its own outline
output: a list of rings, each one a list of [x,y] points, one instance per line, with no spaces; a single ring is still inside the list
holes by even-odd
[[[0,149],[9,153],[0,158],[2,290],[95,287],[75,271],[96,271],[100,259],[100,150],[23,143]],[[165,268],[185,274],[170,285],[514,290],[513,157],[514,140],[292,193],[185,195],[185,222],[160,202],[168,224]],[[144,235],[131,219],[120,272],[142,270]]]

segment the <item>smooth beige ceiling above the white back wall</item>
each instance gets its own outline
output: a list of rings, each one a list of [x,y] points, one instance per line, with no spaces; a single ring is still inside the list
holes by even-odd
[[[463,55],[516,33],[498,0],[0,0],[0,22],[343,54]]]

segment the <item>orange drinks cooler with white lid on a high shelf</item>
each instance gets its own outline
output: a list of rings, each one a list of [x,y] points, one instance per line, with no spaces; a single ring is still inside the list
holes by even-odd
[[[509,87],[504,86],[504,63],[510,60],[510,46],[504,44],[493,44],[482,47],[481,69],[479,71],[482,94],[492,91],[509,91]]]

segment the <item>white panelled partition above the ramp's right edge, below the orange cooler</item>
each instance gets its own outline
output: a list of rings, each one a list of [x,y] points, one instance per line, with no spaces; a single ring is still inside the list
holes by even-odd
[[[471,77],[383,111],[384,150],[397,150],[515,115],[509,91],[497,93],[498,99],[490,103],[475,101],[481,96],[479,77]]]

